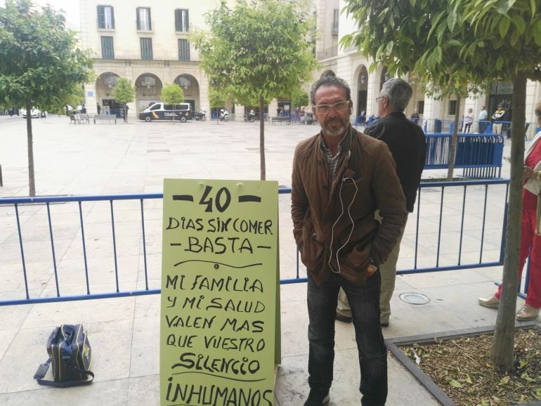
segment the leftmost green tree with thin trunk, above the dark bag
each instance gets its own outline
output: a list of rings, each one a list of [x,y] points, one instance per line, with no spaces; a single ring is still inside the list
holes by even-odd
[[[30,0],[6,0],[0,8],[0,104],[58,110],[75,86],[93,78],[91,59],[77,48],[64,15]],[[36,193],[32,120],[27,115],[29,194]]]

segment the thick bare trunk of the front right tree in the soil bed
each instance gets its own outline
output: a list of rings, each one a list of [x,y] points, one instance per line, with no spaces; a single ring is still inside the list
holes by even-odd
[[[492,360],[504,372],[513,370],[516,290],[518,287],[522,215],[522,174],[524,137],[526,136],[526,74],[513,81],[513,117],[511,121],[511,182],[505,230],[505,257],[502,296],[494,329]]]

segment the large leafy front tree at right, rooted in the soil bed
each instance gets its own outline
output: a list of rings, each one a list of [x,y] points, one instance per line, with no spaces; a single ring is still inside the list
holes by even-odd
[[[359,29],[343,44],[358,46],[390,72],[412,72],[426,89],[458,96],[490,81],[513,81],[504,289],[493,346],[495,365],[506,371],[513,368],[526,79],[541,79],[538,6],[533,0],[346,0]]]

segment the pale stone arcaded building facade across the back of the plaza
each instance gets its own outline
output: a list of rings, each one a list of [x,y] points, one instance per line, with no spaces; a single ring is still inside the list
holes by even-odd
[[[233,0],[228,3],[235,6]],[[130,115],[135,116],[143,107],[159,100],[164,84],[173,82],[183,87],[185,101],[193,110],[209,111],[209,83],[200,69],[197,51],[190,44],[188,32],[193,27],[204,29],[204,13],[218,6],[218,0],[142,0],[137,4],[120,0],[79,0],[80,41],[82,48],[91,50],[93,69],[97,74],[95,83],[85,85],[87,111],[96,113],[98,104],[103,112],[117,110],[111,89],[118,77],[131,80],[136,89],[136,100],[129,104]],[[343,7],[344,0],[313,0],[318,25],[315,56],[321,63],[314,78],[323,70],[334,70],[351,86],[353,114],[377,116],[375,98],[389,74],[382,66],[370,72],[371,60],[355,49],[339,46],[339,39],[344,34],[356,30],[348,15],[341,13]],[[477,117],[481,105],[485,105],[490,117],[497,103],[512,109],[511,94],[512,84],[495,82],[489,93],[471,96],[457,105],[456,98],[435,100],[414,86],[414,95],[405,114],[409,117],[417,109],[427,122],[434,119],[451,121],[456,109],[463,114],[471,107]],[[528,81],[527,94],[526,121],[535,122],[533,105],[541,98],[540,84]],[[268,106],[268,111],[272,114],[277,107],[289,110],[295,106],[286,99],[279,99]]]

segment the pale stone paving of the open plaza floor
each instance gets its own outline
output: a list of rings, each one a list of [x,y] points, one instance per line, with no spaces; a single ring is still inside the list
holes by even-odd
[[[259,179],[259,123],[170,122],[144,123],[130,119],[127,124],[70,124],[67,117],[34,119],[34,160],[37,195],[104,195],[162,192],[164,178]],[[290,185],[294,146],[312,136],[318,126],[266,125],[266,178]],[[25,120],[0,117],[0,165],[4,186],[0,197],[28,194],[27,143]],[[509,144],[509,141],[507,141]],[[504,155],[509,155],[509,145]],[[445,171],[425,171],[423,178],[441,177]],[[509,174],[504,162],[504,177]],[[497,256],[502,228],[502,190],[495,190],[488,219],[486,255]],[[474,191],[472,204],[483,198],[483,188]],[[504,193],[504,192],[503,192]],[[433,193],[437,195],[437,193]],[[445,210],[457,210],[461,195],[451,197]],[[454,198],[454,200],[453,200]],[[424,198],[424,220],[434,225],[438,204]],[[425,204],[425,203],[424,203]],[[148,266],[151,288],[159,287],[161,249],[161,202],[150,207],[148,218]],[[280,276],[294,276],[296,258],[289,218],[289,195],[280,195]],[[53,207],[58,241],[56,263],[67,284],[67,294],[81,294],[82,281],[74,275],[81,254],[75,249],[80,240],[74,210],[69,205]],[[468,214],[474,221],[480,209]],[[107,207],[85,204],[89,224],[90,266],[100,284],[111,289],[110,244],[102,237],[102,216]],[[29,244],[30,287],[33,294],[54,294],[51,277],[51,249],[44,206],[21,207],[22,233]],[[126,289],[141,288],[142,256],[138,237],[130,233],[138,214],[120,207],[118,221],[126,233],[119,241]],[[447,227],[457,222],[451,217]],[[0,297],[13,299],[21,292],[20,251],[14,228],[13,207],[0,202]],[[426,230],[431,226],[426,225]],[[430,234],[432,233],[432,234]],[[132,233],[133,234],[133,233]],[[401,264],[407,268],[413,257],[415,221],[408,222]],[[426,231],[431,242],[424,243],[419,261],[429,264],[436,242],[434,232]],[[432,236],[432,237],[431,237]],[[478,256],[478,236],[471,231],[464,261]],[[448,240],[446,240],[448,239]],[[443,257],[451,261],[457,248],[443,234]],[[454,329],[493,325],[496,312],[477,305],[500,280],[502,267],[474,268],[440,273],[401,275],[391,303],[391,325],[386,338],[445,332]],[[30,271],[29,271],[30,272]],[[304,276],[301,273],[301,276]],[[399,299],[406,292],[421,293],[430,301],[415,306]],[[84,292],[82,292],[84,293]],[[308,316],[306,284],[280,287],[282,364],[275,387],[276,405],[302,405],[308,393]],[[517,306],[523,301],[519,299]],[[158,405],[159,404],[159,295],[124,299],[100,299],[70,303],[0,307],[0,405]],[[39,386],[32,379],[39,363],[46,359],[45,344],[53,327],[65,322],[82,322],[89,331],[94,351],[96,379],[91,386],[57,389]],[[331,405],[359,404],[358,360],[353,327],[337,322],[336,360]],[[437,402],[400,363],[389,357],[388,405],[436,405]]]

